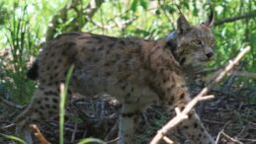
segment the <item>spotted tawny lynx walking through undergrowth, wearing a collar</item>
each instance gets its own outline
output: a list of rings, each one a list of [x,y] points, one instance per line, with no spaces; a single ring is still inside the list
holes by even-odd
[[[191,100],[186,75],[213,57],[213,11],[207,21],[191,26],[181,14],[177,30],[157,40],[67,33],[43,47],[28,75],[39,88],[16,123],[28,124],[58,115],[59,85],[71,64],[75,68],[68,94],[116,97],[122,104],[118,144],[131,144],[141,110],[154,102],[183,109]],[[179,125],[195,144],[213,144],[213,137],[193,110]]]

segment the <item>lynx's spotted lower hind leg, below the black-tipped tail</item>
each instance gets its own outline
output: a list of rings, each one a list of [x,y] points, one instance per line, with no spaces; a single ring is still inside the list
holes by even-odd
[[[49,120],[58,115],[59,94],[57,87],[42,87],[36,90],[32,103],[15,120],[16,134],[30,143],[29,125]]]

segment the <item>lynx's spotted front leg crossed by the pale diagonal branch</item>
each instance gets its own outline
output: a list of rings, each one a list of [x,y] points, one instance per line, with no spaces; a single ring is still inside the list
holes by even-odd
[[[181,71],[178,71],[175,67],[158,71],[158,76],[160,76],[157,79],[160,83],[160,88],[159,86],[158,88],[163,93],[161,99],[169,105],[170,109],[178,107],[182,110],[191,101],[184,77],[181,74]],[[178,127],[182,127],[185,135],[194,144],[214,144],[213,137],[208,133],[194,110],[189,114],[189,118]]]

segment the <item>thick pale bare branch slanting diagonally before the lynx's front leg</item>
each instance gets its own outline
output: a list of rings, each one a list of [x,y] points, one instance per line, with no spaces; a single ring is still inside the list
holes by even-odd
[[[205,87],[182,111],[180,111],[179,108],[175,108],[176,116],[172,118],[167,124],[165,124],[160,130],[157,131],[157,134],[154,136],[150,144],[158,144],[163,137],[167,134],[169,130],[174,128],[176,125],[178,125],[180,122],[182,122],[184,119],[188,117],[188,113],[194,108],[198,102],[211,99],[213,96],[207,96],[205,97],[214,87],[214,85],[228,73],[230,70],[233,69],[233,67],[239,62],[239,60],[244,56],[246,52],[250,50],[250,47],[245,47],[238,55],[233,59],[230,60],[227,66],[220,71],[220,73],[209,83],[207,87]]]

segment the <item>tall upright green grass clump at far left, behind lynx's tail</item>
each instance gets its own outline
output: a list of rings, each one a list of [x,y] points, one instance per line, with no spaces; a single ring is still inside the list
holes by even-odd
[[[30,100],[35,82],[28,81],[26,78],[27,65],[31,56],[38,50],[35,48],[35,39],[30,30],[30,18],[27,15],[27,6],[20,9],[20,15],[12,15],[7,21],[6,37],[10,55],[1,57],[0,69],[2,69],[2,78],[0,84],[9,90],[11,96],[21,103]]]

